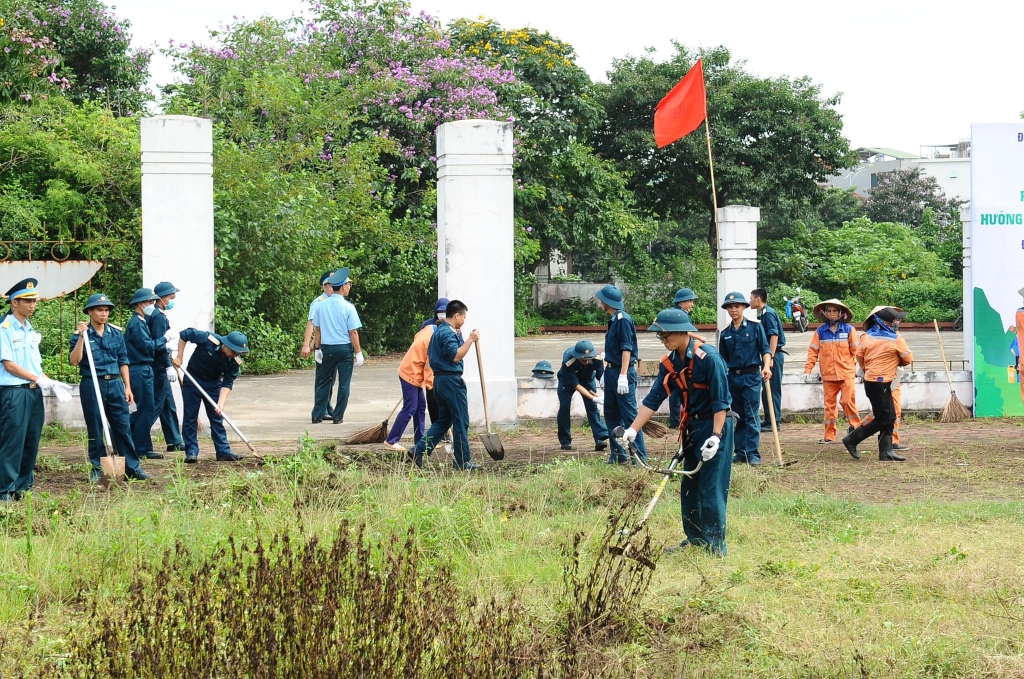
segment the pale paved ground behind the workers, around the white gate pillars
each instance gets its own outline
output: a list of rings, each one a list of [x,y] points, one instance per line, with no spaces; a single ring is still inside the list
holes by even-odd
[[[807,356],[810,333],[788,333],[786,349],[790,352],[787,373],[801,371]],[[600,347],[602,335],[542,335],[516,340],[516,375],[529,376],[530,370],[541,358],[553,365],[561,359],[562,351],[580,339],[589,339]],[[953,368],[961,369],[964,359],[963,333],[943,333],[946,358]],[[714,338],[710,338],[714,340]],[[935,370],[941,366],[938,341],[934,332],[906,333],[907,343],[913,350],[921,369]],[[660,343],[651,333],[640,337],[640,355],[657,358],[662,355]],[[316,438],[344,438],[365,427],[379,423],[387,417],[400,398],[397,366],[399,354],[375,357],[355,370],[352,377],[352,396],[345,422],[312,425],[309,411],[312,407],[313,372],[291,371],[265,377],[243,376],[236,383],[234,393],[228,401],[228,415],[252,440],[295,440],[308,430]]]

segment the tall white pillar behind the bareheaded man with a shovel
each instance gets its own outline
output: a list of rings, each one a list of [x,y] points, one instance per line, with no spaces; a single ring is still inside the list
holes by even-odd
[[[492,423],[514,426],[515,288],[512,125],[462,120],[437,128],[437,289],[469,307],[480,331]],[[469,417],[483,422],[476,352],[465,359]]]

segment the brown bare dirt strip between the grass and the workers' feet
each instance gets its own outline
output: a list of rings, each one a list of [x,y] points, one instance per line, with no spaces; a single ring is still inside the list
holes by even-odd
[[[760,468],[734,468],[733,477],[757,475],[759,484],[780,491],[824,493],[850,500],[896,504],[928,499],[1005,501],[1024,498],[1024,421],[986,420],[959,425],[935,421],[903,424],[903,441],[910,444],[904,463],[878,460],[873,439],[861,447],[861,459],[853,460],[842,444],[820,445],[820,424],[786,424],[781,430],[782,456],[792,462],[783,469],[774,464],[771,437],[761,439]],[[502,462],[486,458],[483,447],[471,435],[473,456],[484,466],[483,473],[536,473],[542,465],[557,460],[586,458],[603,460],[604,454],[593,450],[589,431],[574,430],[577,450],[560,450],[552,427],[526,426],[511,434],[502,434],[506,457]],[[264,458],[292,455],[295,441],[261,441],[258,451]],[[648,438],[652,460],[665,460],[675,450],[675,438]],[[346,466],[358,464],[386,472],[401,464],[402,456],[381,445],[336,444],[328,454],[332,462]],[[145,461],[143,468],[154,475],[148,485],[161,487],[181,473],[193,480],[204,480],[231,473],[258,469],[262,463],[250,456],[240,463],[218,463],[207,443],[196,465],[180,463],[181,454],[168,454],[165,460]],[[438,451],[428,459],[424,473],[455,473],[451,457]],[[88,493],[88,466],[81,445],[45,448],[40,451],[36,470],[36,491],[63,495]],[[136,484],[138,487],[138,484]],[[141,489],[139,489],[141,490]]]

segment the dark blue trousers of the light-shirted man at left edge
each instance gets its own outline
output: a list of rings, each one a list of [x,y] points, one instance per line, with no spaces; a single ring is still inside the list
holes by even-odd
[[[0,495],[35,482],[45,415],[42,389],[0,387]]]

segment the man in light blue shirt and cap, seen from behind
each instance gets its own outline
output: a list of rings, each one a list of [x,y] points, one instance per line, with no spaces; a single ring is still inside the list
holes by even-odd
[[[314,346],[322,352],[323,363],[316,375],[316,390],[311,414],[312,423],[323,422],[330,417],[335,424],[341,424],[348,408],[349,387],[352,382],[352,368],[361,366],[362,349],[359,346],[359,328],[362,322],[355,306],[345,297],[352,290],[352,280],[348,267],[335,271],[328,280],[334,294],[314,305],[312,323],[316,328]],[[338,379],[338,399],[331,407],[331,391],[335,378]]]

